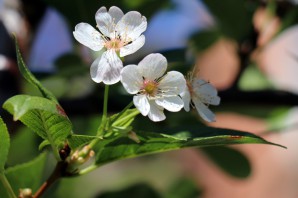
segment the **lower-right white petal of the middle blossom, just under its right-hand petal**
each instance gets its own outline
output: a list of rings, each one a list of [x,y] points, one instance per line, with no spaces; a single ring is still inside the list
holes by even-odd
[[[180,111],[184,106],[183,100],[179,96],[158,98],[155,100],[155,102],[159,106],[162,106],[163,108],[171,112]]]

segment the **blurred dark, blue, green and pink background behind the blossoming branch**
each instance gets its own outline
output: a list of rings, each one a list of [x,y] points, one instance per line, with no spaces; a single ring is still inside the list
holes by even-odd
[[[48,197],[296,198],[298,197],[298,6],[292,0],[0,0],[0,102],[39,93],[18,73],[12,34],[28,68],[60,100],[74,131],[92,134],[103,101],[102,84],[89,68],[96,53],[75,41],[76,24],[96,26],[101,6],[139,11],[147,17],[146,43],[125,57],[138,63],[152,52],[165,55],[170,70],[214,85],[221,104],[217,121],[195,111],[167,114],[162,123],[139,116],[136,129],[210,125],[253,132],[287,149],[240,145],[185,149],[123,160],[78,178],[62,179]],[[120,96],[119,96],[120,95]],[[119,97],[123,99],[118,100]],[[131,96],[111,89],[109,110]],[[33,159],[40,140],[3,110],[12,145],[8,165]],[[26,142],[26,147],[20,146]],[[50,162],[49,162],[50,163]],[[47,173],[45,173],[45,177]]]

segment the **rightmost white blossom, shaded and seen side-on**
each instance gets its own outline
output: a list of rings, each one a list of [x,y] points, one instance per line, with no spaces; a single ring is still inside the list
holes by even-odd
[[[209,82],[198,78],[190,78],[186,84],[187,88],[181,94],[185,111],[189,111],[189,106],[192,105],[205,121],[214,122],[215,115],[208,109],[208,106],[220,103],[216,88]]]

